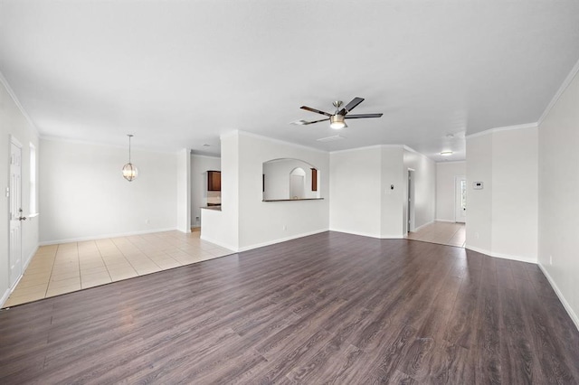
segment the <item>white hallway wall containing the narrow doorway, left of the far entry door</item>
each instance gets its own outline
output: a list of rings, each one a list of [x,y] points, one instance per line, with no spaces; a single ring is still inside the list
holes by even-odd
[[[436,163],[425,155],[404,148],[404,178],[413,169],[414,178],[414,228],[418,229],[434,221],[436,211]],[[408,183],[404,183],[405,197],[408,196]],[[408,202],[403,200],[403,224],[408,215]],[[405,230],[403,230],[405,233]]]

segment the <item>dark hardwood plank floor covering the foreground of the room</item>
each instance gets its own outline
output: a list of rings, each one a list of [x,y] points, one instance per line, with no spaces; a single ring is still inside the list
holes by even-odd
[[[535,265],[326,232],[0,312],[0,383],[579,382]]]

